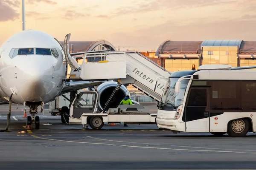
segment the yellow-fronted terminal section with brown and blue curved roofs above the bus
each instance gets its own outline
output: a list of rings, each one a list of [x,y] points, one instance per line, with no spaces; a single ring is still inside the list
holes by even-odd
[[[256,65],[256,41],[204,40],[164,41],[156,51],[160,65],[168,71],[191,69],[206,64],[233,67]]]

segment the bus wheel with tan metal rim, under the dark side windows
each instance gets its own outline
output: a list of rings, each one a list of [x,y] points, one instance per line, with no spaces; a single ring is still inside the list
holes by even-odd
[[[236,119],[230,121],[227,127],[227,134],[233,137],[245,136],[249,131],[249,121],[247,119]]]

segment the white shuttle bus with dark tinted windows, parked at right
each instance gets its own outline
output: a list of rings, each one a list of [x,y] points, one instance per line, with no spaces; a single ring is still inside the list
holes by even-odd
[[[157,126],[172,132],[245,136],[256,132],[256,70],[202,65],[176,71],[158,104]]]

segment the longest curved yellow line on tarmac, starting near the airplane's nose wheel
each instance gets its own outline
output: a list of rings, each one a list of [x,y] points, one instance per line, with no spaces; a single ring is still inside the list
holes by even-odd
[[[38,136],[35,136],[35,135],[33,135],[33,137],[38,138],[38,139],[45,139],[45,140],[59,141],[59,142],[70,142],[70,143],[81,143],[81,144],[100,144],[100,145],[109,145],[109,146],[135,147],[135,148],[159,149],[159,150],[183,150],[183,151],[217,152],[217,153],[221,153],[221,152],[223,152],[223,153],[248,153],[248,152],[226,151],[226,150],[192,150],[192,149],[175,149],[175,148],[165,148],[165,147],[143,147],[143,146],[108,144],[108,143],[94,143],[94,142],[78,142],[78,141],[67,141],[67,140],[41,138],[41,137],[38,137]]]

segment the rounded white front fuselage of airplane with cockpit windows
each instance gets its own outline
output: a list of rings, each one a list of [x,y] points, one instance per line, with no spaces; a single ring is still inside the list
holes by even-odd
[[[12,101],[47,103],[64,87],[66,63],[61,45],[49,34],[26,30],[0,48],[0,95]],[[3,98],[1,98],[4,101]]]

